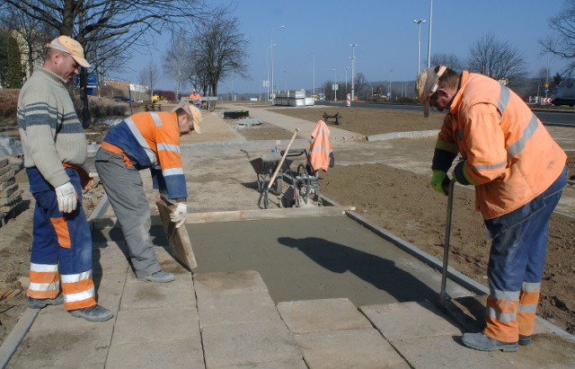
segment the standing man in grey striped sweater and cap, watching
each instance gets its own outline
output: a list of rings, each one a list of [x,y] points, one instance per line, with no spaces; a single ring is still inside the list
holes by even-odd
[[[80,66],[90,64],[82,46],[67,36],[47,46],[43,67],[34,70],[18,98],[24,166],[36,200],[28,306],[64,303],[74,317],[108,321],[114,314],[96,303],[92,235],[82,206],[82,189],[93,185],[83,168],[88,146],[66,89]]]

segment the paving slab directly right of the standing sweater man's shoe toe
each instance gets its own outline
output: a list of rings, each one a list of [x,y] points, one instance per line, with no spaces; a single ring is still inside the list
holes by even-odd
[[[122,310],[118,312],[112,345],[173,339],[200,339],[195,307]]]

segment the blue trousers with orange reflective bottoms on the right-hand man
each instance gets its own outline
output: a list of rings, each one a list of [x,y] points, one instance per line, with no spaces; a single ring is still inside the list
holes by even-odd
[[[567,182],[567,168],[549,189],[532,202],[543,202],[535,212],[531,204],[485,222],[495,237],[489,266],[490,295],[483,333],[503,342],[517,342],[519,334],[531,336],[543,277],[549,218]],[[502,226],[502,224],[504,224]]]

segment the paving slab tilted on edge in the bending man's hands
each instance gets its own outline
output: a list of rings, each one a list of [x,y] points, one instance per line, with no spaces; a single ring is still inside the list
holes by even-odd
[[[191,248],[190,235],[185,224],[180,228],[176,228],[175,224],[170,221],[170,214],[175,206],[172,204],[168,205],[163,200],[156,201],[155,205],[158,206],[160,211],[164,232],[168,237],[168,243],[175,258],[189,270],[198,267],[196,256]]]

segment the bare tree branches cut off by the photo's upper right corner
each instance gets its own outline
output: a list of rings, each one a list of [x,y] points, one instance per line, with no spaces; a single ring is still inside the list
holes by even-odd
[[[539,40],[539,44],[544,52],[568,60],[564,74],[572,76],[575,73],[575,0],[564,0],[561,12],[548,24],[554,34]]]

